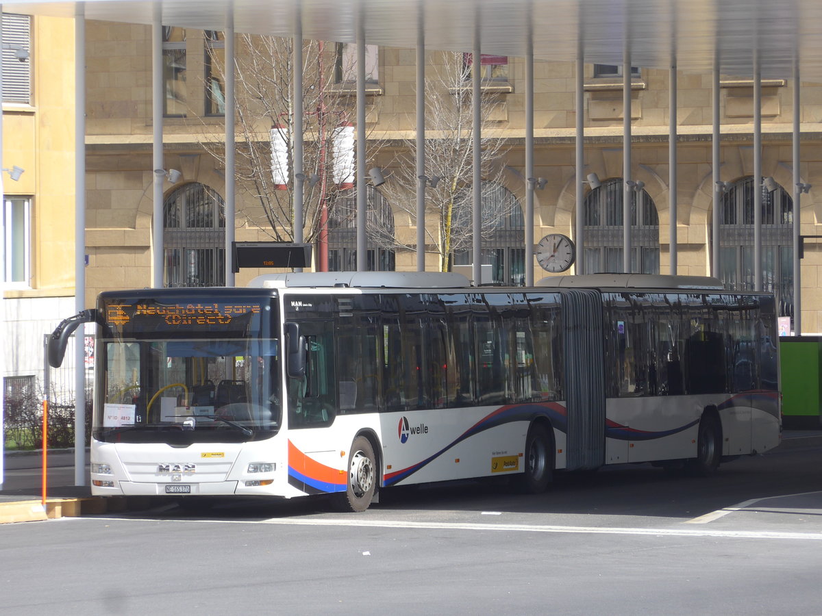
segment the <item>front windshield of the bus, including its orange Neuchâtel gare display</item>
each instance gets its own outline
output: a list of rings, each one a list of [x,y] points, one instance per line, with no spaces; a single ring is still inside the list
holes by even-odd
[[[188,319],[184,306],[192,306]],[[279,340],[270,305],[145,301],[106,306],[95,439],[191,444],[268,438],[279,430]],[[197,322],[196,315],[202,317]],[[215,316],[216,315],[216,316]],[[233,327],[231,327],[233,324]],[[242,327],[238,328],[238,324]],[[268,331],[265,331],[268,330]],[[268,333],[263,338],[260,334]]]

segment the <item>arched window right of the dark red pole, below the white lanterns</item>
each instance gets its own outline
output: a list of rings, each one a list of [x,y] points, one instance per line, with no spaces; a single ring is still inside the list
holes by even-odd
[[[366,245],[369,272],[395,269],[394,212],[374,186],[366,188]],[[328,269],[357,271],[357,194],[339,196],[328,217]]]

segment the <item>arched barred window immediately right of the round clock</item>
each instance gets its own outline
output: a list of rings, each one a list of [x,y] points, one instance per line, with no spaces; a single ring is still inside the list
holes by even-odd
[[[621,177],[603,182],[585,195],[586,274],[621,272],[623,269],[622,203],[624,185]],[[630,271],[637,274],[659,274],[659,217],[657,207],[647,191],[631,192],[630,205]],[[637,216],[639,205],[639,216]]]

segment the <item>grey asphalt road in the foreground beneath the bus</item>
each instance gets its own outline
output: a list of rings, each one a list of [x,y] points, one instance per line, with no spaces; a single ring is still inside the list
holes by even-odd
[[[8,614],[822,614],[822,448],[0,526]],[[791,496],[791,494],[799,494]]]

